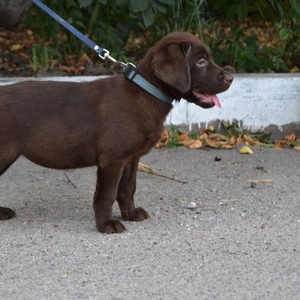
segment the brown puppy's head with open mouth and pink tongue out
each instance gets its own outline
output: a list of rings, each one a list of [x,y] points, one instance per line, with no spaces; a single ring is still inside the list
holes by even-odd
[[[152,71],[177,91],[175,99],[184,98],[203,108],[221,107],[216,94],[230,87],[233,76],[214,63],[199,39],[188,33],[171,33],[153,50]]]

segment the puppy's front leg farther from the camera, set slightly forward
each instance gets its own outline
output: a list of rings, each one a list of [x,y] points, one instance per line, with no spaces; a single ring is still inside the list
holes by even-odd
[[[119,184],[117,201],[122,217],[126,221],[144,221],[149,218],[148,213],[143,208],[136,208],[134,205],[138,163],[139,159],[134,159],[125,166]]]

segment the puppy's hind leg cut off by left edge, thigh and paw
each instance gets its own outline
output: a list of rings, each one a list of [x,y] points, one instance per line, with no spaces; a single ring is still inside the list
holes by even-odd
[[[1,141],[0,141],[1,142]],[[11,147],[0,145],[0,176],[14,163],[20,156],[17,151],[11,151]],[[8,207],[0,206],[0,221],[12,219],[16,213]]]

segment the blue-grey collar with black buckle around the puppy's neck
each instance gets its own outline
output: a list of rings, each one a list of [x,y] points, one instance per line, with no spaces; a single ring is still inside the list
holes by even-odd
[[[124,77],[140,86],[142,89],[147,91],[149,94],[154,96],[155,98],[171,104],[173,102],[173,98],[165,95],[162,91],[160,91],[156,86],[151,84],[149,81],[144,79],[141,75],[137,73],[136,67],[134,64],[128,63],[126,64],[125,70],[124,70]]]

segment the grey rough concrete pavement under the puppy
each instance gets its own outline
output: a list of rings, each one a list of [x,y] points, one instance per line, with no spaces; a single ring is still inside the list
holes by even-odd
[[[187,184],[139,173],[151,219],[103,235],[95,168],[19,159],[0,178],[18,214],[0,223],[0,298],[300,299],[299,152],[160,149],[142,162]]]

